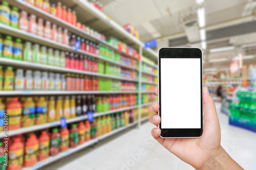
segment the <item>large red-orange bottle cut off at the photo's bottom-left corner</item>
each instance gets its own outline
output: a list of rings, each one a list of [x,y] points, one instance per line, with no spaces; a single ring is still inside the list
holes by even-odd
[[[8,170],[21,170],[23,167],[24,143],[20,137],[14,137],[9,145]]]

